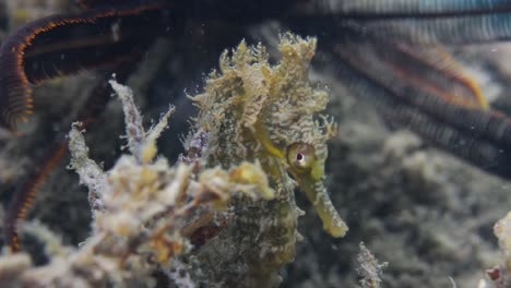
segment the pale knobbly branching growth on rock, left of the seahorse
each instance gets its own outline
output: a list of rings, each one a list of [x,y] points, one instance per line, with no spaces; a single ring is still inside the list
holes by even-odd
[[[128,92],[112,84],[117,93]],[[138,113],[132,98],[124,98],[123,106]],[[195,229],[190,227],[197,227],[199,211],[223,207],[240,191],[248,196],[272,196],[257,165],[243,163],[229,170],[212,168],[194,175],[189,165],[170,167],[164,157],[155,160],[154,141],[169,115],[148,132],[141,127],[136,133],[129,130],[128,141],[136,143],[138,148],[132,149],[136,155],[121,156],[107,172],[88,158],[79,124],[73,125],[70,167],[95,200],[91,203],[95,211],[91,237],[80,248],[62,248],[66,253],[56,252],[50,263],[40,267],[33,267],[26,254],[2,257],[0,286],[153,287],[159,266],[168,266],[175,255],[192,248],[189,238]],[[130,116],[126,119],[136,121]],[[251,182],[247,175],[257,176],[258,182]]]

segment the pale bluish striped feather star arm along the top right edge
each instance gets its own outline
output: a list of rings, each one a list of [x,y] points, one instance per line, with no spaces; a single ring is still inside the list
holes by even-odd
[[[337,41],[346,39],[346,27],[360,35],[421,45],[478,44],[511,38],[511,3],[504,0],[305,0],[296,10],[289,16],[292,26],[313,25],[316,31]]]

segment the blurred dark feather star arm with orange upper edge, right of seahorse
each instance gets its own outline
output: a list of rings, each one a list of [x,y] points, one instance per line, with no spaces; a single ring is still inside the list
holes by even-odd
[[[487,105],[462,64],[430,60],[444,50],[418,51],[384,41],[334,48],[343,81],[352,81],[355,94],[387,120],[484,170],[511,177],[511,118]]]

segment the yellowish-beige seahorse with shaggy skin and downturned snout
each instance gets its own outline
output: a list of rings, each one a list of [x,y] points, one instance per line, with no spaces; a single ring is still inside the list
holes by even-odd
[[[202,167],[261,165],[275,197],[235,197],[223,216],[227,227],[195,254],[192,274],[207,287],[274,287],[278,268],[293,261],[300,235],[295,187],[302,190],[323,228],[343,237],[346,224],[323,184],[326,141],[336,125],[325,109],[329,94],[308,79],[317,39],[281,36],[281,60],[272,65],[261,45],[225,51],[204,91],[190,96],[199,108],[192,131],[207,132]],[[192,135],[191,135],[192,136]],[[190,137],[191,137],[190,136]]]

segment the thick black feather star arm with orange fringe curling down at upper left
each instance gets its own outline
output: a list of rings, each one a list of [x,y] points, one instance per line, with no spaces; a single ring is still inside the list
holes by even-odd
[[[32,85],[115,65],[133,46],[164,33],[165,5],[154,1],[50,16],[12,34],[0,47],[0,125],[13,130],[32,113]]]

